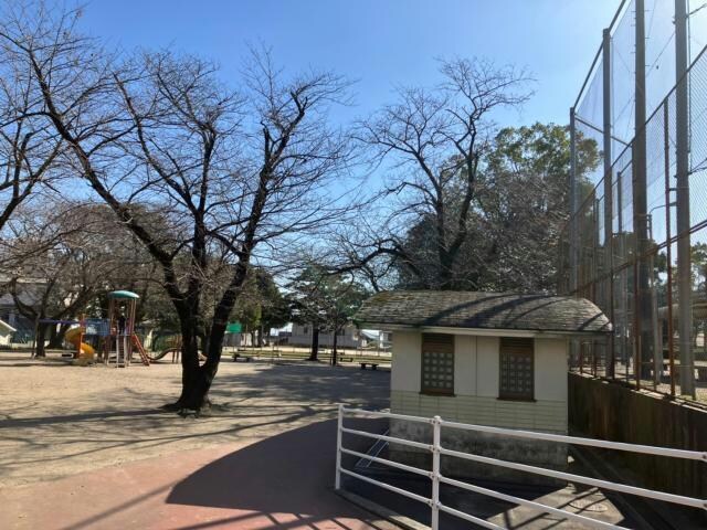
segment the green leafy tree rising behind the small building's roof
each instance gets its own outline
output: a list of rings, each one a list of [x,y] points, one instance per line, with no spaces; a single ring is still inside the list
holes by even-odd
[[[560,233],[569,219],[570,149],[567,127],[535,124],[505,128],[484,158],[460,258],[449,271],[450,287],[469,290],[551,292],[557,285]],[[595,142],[579,149],[582,174],[599,163]],[[445,205],[455,212],[458,183],[452,180]],[[585,180],[582,187],[591,187]],[[437,285],[435,216],[421,215],[401,241],[409,256],[395,262],[399,285]]]

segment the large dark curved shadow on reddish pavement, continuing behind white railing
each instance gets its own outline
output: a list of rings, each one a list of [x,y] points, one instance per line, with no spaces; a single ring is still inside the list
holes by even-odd
[[[388,427],[387,420],[346,420],[346,426],[372,433],[382,433]],[[366,453],[372,441],[360,436],[346,435],[347,448]],[[397,476],[394,473],[379,475],[377,471],[356,467],[356,457],[344,455],[344,467],[368,475],[418,495],[430,497],[431,483],[419,476]],[[178,483],[167,497],[167,504],[208,507],[231,510],[246,510],[261,515],[304,515],[312,523],[335,518],[357,518],[360,510],[334,492],[336,466],[336,420],[314,423],[235,451],[197,470]],[[394,470],[393,470],[394,471]],[[372,474],[372,475],[371,475]],[[429,523],[430,508],[386,491],[367,483],[344,476],[346,489],[382,505],[393,511],[407,515],[413,520]],[[605,502],[595,488],[578,485],[570,494],[561,485],[511,485],[471,480],[472,483],[499,489],[509,495],[539,500],[558,508],[570,508],[571,501],[583,501],[582,515],[591,517],[592,506]],[[443,504],[474,513],[482,519],[493,520],[505,528],[569,529],[587,528],[557,516],[539,513],[528,508],[515,508],[514,504],[444,487]],[[542,502],[544,500],[540,500]],[[584,512],[584,510],[587,510]],[[600,515],[601,516],[601,515]],[[621,515],[618,515],[621,519]],[[615,517],[615,516],[614,516]],[[620,520],[620,523],[630,521]],[[281,528],[278,524],[275,527]],[[189,527],[191,528],[191,527]],[[198,527],[196,527],[198,528]],[[442,516],[442,527],[449,529],[469,528],[469,523],[452,516]],[[474,527],[477,528],[477,527]],[[629,524],[629,528],[635,528]]]

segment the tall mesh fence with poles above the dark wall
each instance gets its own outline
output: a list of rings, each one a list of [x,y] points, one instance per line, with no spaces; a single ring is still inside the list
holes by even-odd
[[[690,7],[687,34],[674,2],[632,0],[604,35],[573,108],[559,287],[613,322],[608,340],[574,346],[572,370],[707,404],[707,51],[692,36],[707,9]]]

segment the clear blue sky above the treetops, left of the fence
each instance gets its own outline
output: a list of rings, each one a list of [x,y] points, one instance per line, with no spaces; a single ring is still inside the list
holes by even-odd
[[[432,85],[435,57],[484,56],[527,67],[536,95],[500,125],[567,123],[619,0],[92,0],[89,33],[126,50],[172,50],[219,62],[238,83],[249,43],[272,46],[287,71],[333,68],[358,80],[362,116],[395,85]],[[350,116],[349,116],[350,115]]]

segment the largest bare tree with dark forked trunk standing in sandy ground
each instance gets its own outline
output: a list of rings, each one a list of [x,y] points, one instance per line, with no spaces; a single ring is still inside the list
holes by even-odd
[[[71,13],[28,24],[10,19],[0,38],[30,65],[80,173],[159,264],[182,335],[182,392],[171,407],[200,410],[256,248],[274,257],[284,239],[348,210],[329,183],[346,169],[350,142],[327,126],[348,84],[326,72],[286,77],[255,53],[238,94],[194,57],[148,54],[118,68],[77,35]],[[138,204],[171,215],[172,231],[155,231]],[[217,262],[230,275],[205,315]]]

